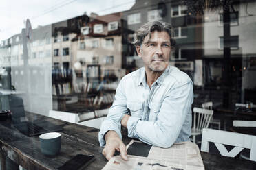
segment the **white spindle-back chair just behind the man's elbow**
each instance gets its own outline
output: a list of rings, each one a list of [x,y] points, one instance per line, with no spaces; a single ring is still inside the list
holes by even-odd
[[[193,127],[191,129],[191,136],[193,136],[193,143],[195,143],[195,136],[202,134],[202,129],[209,126],[213,110],[204,108],[193,108]]]

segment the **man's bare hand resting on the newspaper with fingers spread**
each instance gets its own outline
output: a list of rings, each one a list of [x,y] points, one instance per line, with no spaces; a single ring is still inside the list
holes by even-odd
[[[125,144],[119,138],[118,134],[114,130],[109,130],[105,134],[106,145],[103,149],[103,155],[110,160],[114,156],[115,151],[120,151],[123,160],[128,160]]]

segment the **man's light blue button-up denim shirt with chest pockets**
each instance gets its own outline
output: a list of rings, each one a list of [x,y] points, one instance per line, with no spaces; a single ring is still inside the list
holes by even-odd
[[[145,68],[122,77],[116,88],[113,105],[98,134],[100,146],[109,130],[120,133],[120,121],[127,121],[128,136],[158,147],[171,147],[175,142],[189,141],[193,83],[186,73],[168,66],[149,88]]]

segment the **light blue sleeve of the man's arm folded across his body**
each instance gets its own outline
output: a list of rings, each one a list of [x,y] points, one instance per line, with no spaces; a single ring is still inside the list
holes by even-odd
[[[182,125],[191,114],[193,83],[177,84],[167,91],[157,114],[156,121],[142,121],[138,118],[127,122],[128,136],[158,147],[171,147],[177,140]],[[191,118],[191,115],[189,115]],[[191,127],[188,127],[191,128]]]

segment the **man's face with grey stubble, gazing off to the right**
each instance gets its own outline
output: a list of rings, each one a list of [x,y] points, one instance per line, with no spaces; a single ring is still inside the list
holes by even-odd
[[[149,71],[164,71],[169,64],[171,53],[170,36],[167,32],[152,32],[144,38],[142,45],[136,47]]]

